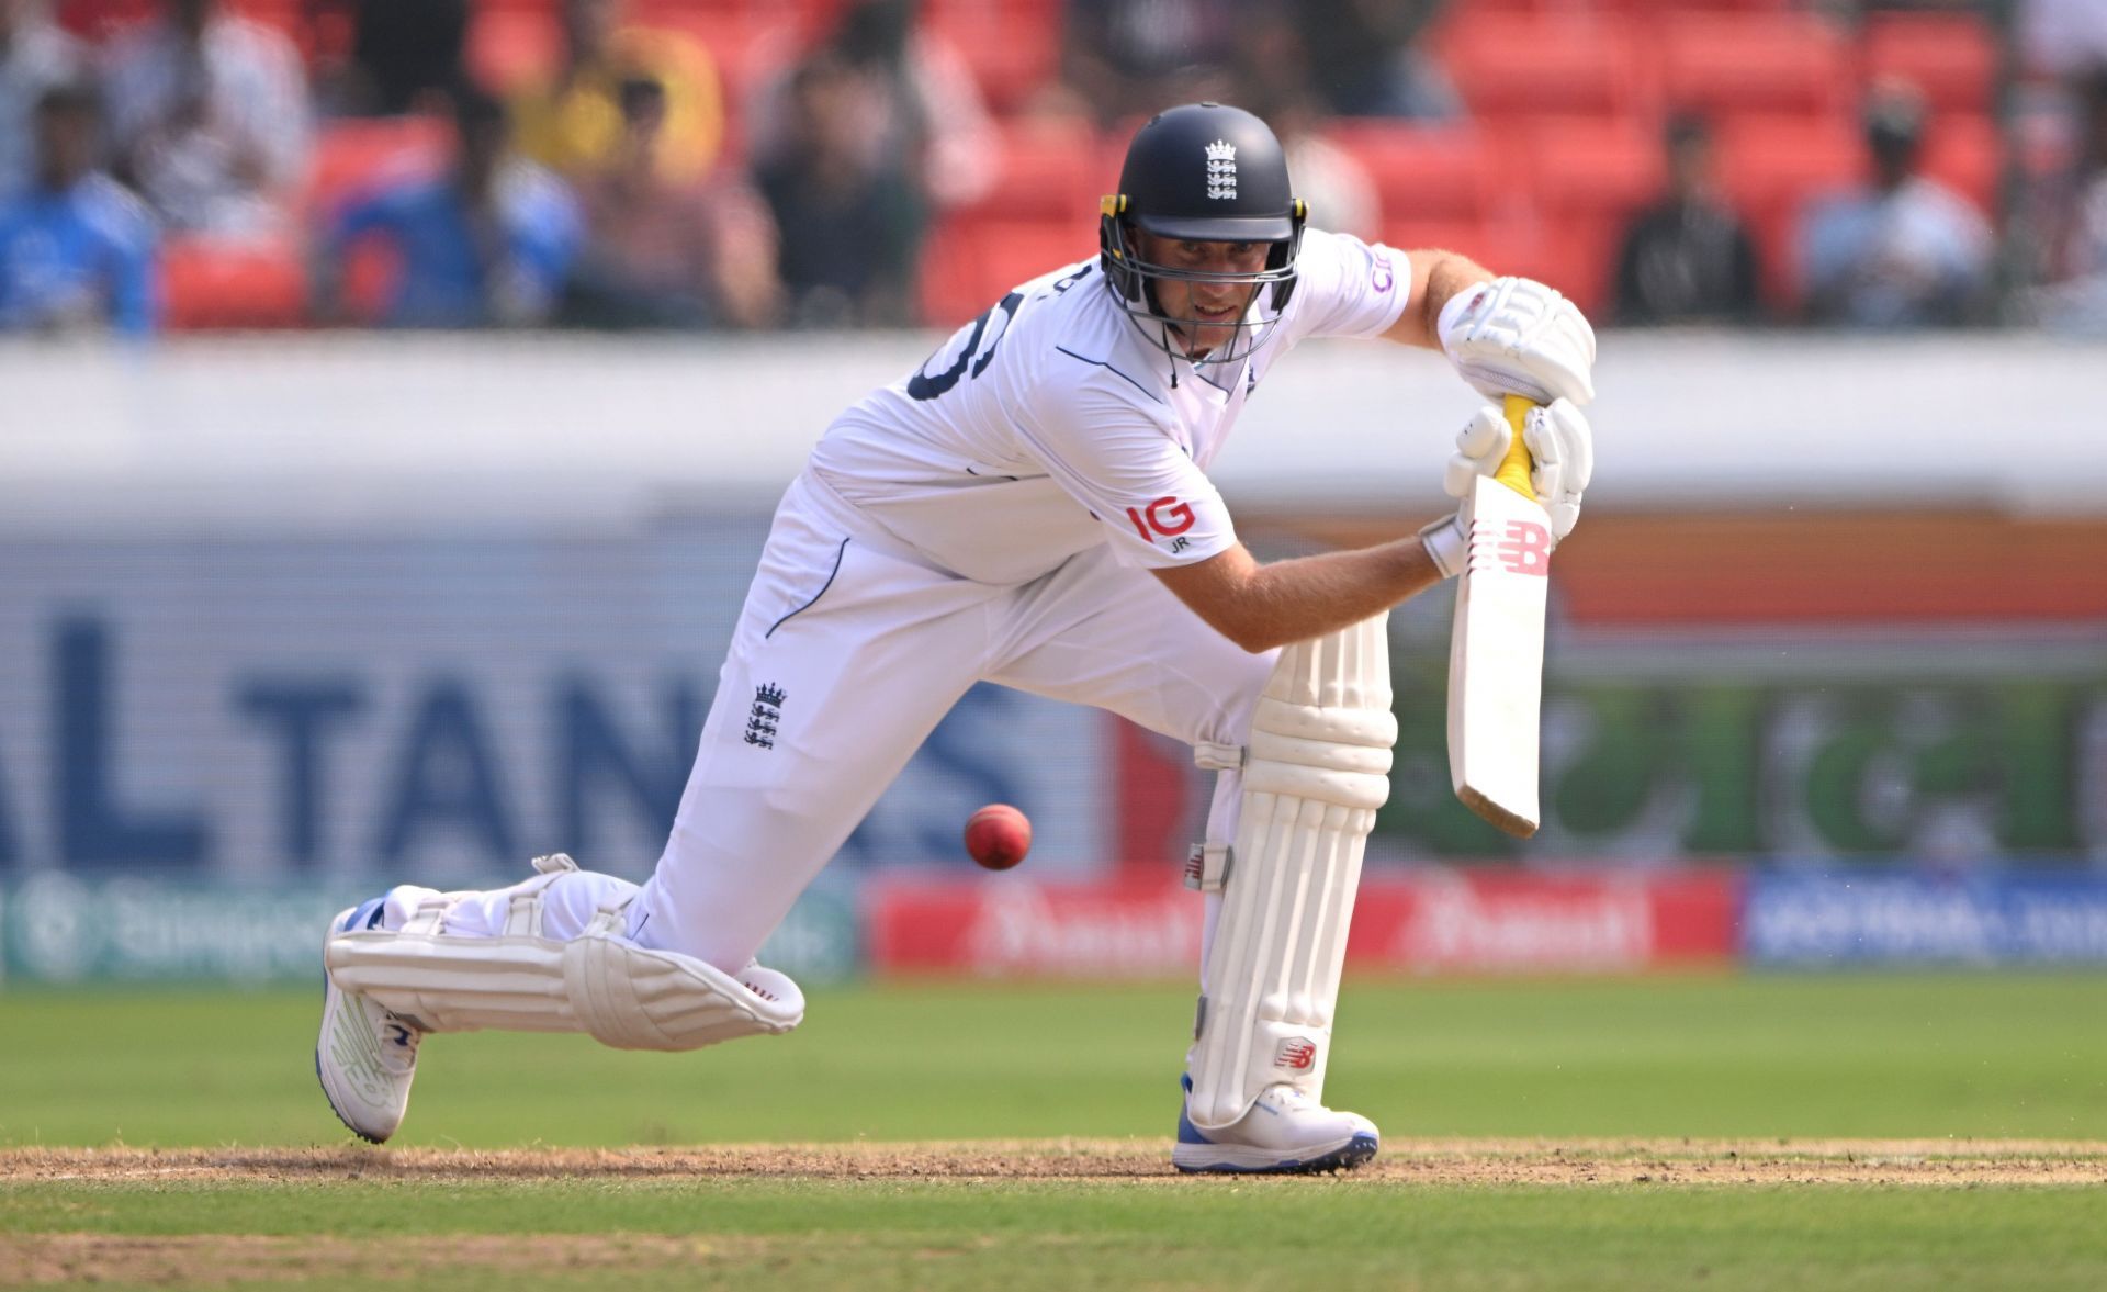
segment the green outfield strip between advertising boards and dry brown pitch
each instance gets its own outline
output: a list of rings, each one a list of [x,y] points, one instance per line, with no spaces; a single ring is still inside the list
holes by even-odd
[[[0,993],[0,1144],[329,1144],[320,988]],[[1182,984],[818,991],[788,1037],[428,1041],[398,1144],[1167,1136]],[[2107,974],[1353,982],[1327,1096],[1391,1136],[2107,1140]]]

